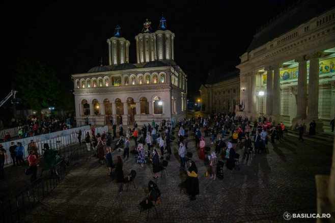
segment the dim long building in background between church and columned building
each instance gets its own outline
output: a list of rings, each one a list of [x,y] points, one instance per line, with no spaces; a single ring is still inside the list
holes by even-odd
[[[205,113],[233,113],[240,101],[239,70],[229,73],[223,73],[219,68],[210,70],[199,91],[201,110]]]

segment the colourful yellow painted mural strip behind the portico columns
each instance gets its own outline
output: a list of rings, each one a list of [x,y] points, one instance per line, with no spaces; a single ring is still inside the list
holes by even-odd
[[[326,73],[334,73],[334,63],[335,58],[330,58],[326,60],[319,61],[319,75],[326,74]],[[296,79],[299,76],[299,69],[298,67],[292,67],[289,69],[281,70],[281,81],[283,80],[290,80],[290,79]],[[307,65],[307,76],[310,74],[310,64]],[[266,83],[267,81],[267,75],[263,75],[263,83]]]

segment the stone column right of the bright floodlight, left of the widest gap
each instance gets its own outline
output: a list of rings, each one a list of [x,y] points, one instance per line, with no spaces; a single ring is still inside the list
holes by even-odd
[[[280,69],[283,64],[276,64],[273,68],[273,88],[272,88],[272,115],[281,115],[281,74]],[[278,118],[277,118],[278,119]],[[279,120],[276,120],[279,121]]]

